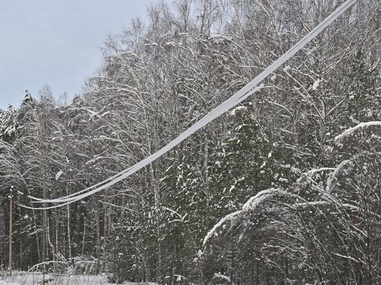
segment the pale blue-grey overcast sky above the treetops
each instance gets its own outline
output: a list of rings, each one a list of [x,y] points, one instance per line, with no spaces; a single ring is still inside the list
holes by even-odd
[[[107,34],[145,18],[157,0],[3,0],[0,9],[0,108],[16,107],[46,83],[58,96],[81,91],[101,62]]]

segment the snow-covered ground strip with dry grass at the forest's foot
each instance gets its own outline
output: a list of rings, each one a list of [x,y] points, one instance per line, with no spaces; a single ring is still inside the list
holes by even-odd
[[[45,282],[43,281],[45,280]],[[47,281],[50,280],[50,281]],[[107,275],[55,275],[42,273],[14,272],[11,277],[0,276],[0,285],[110,285]],[[128,285],[154,285],[155,283],[133,283],[126,282]]]

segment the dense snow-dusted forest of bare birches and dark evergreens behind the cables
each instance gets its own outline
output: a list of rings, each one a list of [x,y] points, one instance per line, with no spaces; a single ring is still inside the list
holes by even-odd
[[[44,86],[1,111],[3,267],[12,190],[15,269],[51,262],[38,270],[162,284],[381,283],[376,0],[358,1],[260,91],[149,167],[61,208],[20,206],[51,205],[27,195],[70,195],[148,157],[341,3],[155,4],[107,38],[72,102]]]

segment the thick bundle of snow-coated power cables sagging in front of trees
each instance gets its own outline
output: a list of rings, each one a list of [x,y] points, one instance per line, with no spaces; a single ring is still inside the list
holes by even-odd
[[[85,197],[88,197],[94,193],[97,193],[107,187],[110,187],[114,185],[115,183],[125,179],[126,177],[132,175],[139,169],[149,165],[157,158],[161,157],[164,153],[168,152],[170,149],[178,145],[180,142],[185,140],[190,135],[197,132],[200,128],[205,126],[207,123],[211,122],[212,120],[219,117],[221,114],[225,113],[244,99],[246,99],[248,96],[253,94],[255,91],[260,89],[262,86],[257,87],[257,85],[263,81],[268,75],[270,75],[272,72],[274,72],[279,66],[281,66],[284,62],[291,59],[300,49],[302,49],[308,42],[310,42],[312,39],[314,39],[323,29],[328,27],[329,24],[331,24],[334,20],[336,20],[340,15],[342,15],[349,7],[351,7],[354,3],[356,3],[357,0],[347,0],[345,1],[338,9],[336,9],[334,12],[332,12],[328,17],[326,17],[315,29],[313,29],[311,32],[309,32],[306,36],[304,36],[299,42],[297,42],[293,47],[291,47],[285,54],[283,54],[280,58],[278,58],[276,61],[274,61],[270,66],[268,66],[263,72],[261,72],[259,75],[257,75],[251,82],[249,82],[247,85],[245,85],[241,90],[236,92],[233,96],[231,96],[229,99],[221,103],[218,107],[213,109],[211,112],[209,112],[207,115],[205,115],[202,119],[200,119],[198,122],[196,122],[194,125],[190,126],[185,132],[183,132],[181,135],[179,135],[177,138],[175,138],[173,141],[156,151],[155,153],[151,154],[151,156],[145,158],[144,160],[136,163],[130,169],[126,171],[122,171],[113,177],[117,176],[115,179],[111,180],[110,182],[102,185],[106,182],[106,179],[103,182],[99,183],[98,185],[102,185],[99,188],[93,189],[87,193],[80,194],[80,192],[83,192],[84,190],[72,194],[72,197],[67,198],[59,198],[59,199],[40,199],[40,202],[63,202],[62,204],[51,206],[51,207],[44,207],[44,208],[33,208],[28,207],[25,205],[20,205],[28,209],[36,209],[36,210],[43,210],[43,209],[53,209],[58,208],[59,206],[63,206],[69,203],[73,203],[75,201],[81,200]],[[122,173],[122,174],[121,174]],[[77,195],[79,194],[79,195]]]

